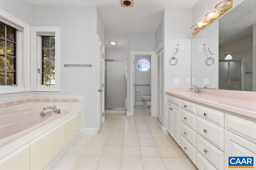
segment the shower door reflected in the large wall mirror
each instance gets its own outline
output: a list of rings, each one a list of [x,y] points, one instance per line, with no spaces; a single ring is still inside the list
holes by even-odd
[[[219,61],[219,89],[243,90],[243,62],[234,60]]]

